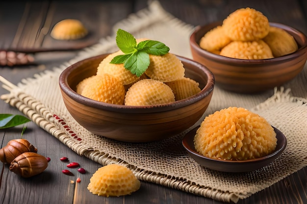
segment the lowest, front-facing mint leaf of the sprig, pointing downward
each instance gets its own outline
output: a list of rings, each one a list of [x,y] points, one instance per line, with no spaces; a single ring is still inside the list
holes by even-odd
[[[132,74],[140,77],[150,64],[149,55],[144,51],[137,51],[129,56],[124,63],[124,67]]]

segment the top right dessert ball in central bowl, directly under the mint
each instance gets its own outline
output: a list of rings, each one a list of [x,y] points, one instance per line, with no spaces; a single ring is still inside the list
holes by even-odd
[[[150,65],[145,74],[151,79],[161,82],[175,81],[184,77],[183,64],[176,55],[149,55]]]

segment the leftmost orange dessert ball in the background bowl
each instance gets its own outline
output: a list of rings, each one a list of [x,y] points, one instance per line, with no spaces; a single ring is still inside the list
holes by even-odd
[[[225,34],[222,26],[217,26],[207,32],[204,37],[201,38],[200,47],[209,51],[216,53],[223,47],[231,42],[230,38]]]

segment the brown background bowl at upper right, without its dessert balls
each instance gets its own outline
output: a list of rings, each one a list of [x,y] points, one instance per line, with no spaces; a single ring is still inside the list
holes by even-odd
[[[307,59],[307,37],[302,32],[280,23],[270,23],[290,33],[299,49],[291,54],[264,60],[234,59],[213,54],[199,46],[206,32],[222,22],[198,26],[190,36],[193,59],[207,68],[214,76],[216,85],[227,91],[255,93],[281,86],[293,79],[304,68]]]

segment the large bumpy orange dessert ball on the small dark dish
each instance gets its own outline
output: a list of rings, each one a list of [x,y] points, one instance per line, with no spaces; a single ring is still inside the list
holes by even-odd
[[[229,107],[205,117],[194,145],[208,158],[246,160],[270,154],[277,138],[263,117],[244,108]]]

